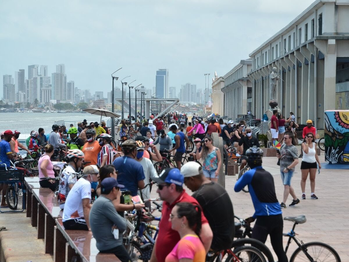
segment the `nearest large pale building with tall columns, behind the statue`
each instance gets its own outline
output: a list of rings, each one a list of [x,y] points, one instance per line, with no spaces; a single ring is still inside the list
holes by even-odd
[[[247,77],[253,83],[256,117],[270,108],[273,67],[281,77],[277,102],[283,116],[292,111],[298,123],[311,119],[324,128],[324,111],[343,107],[343,97],[349,99],[348,93],[342,95],[349,92],[348,14],[349,1],[317,0],[250,54],[253,66]]]

